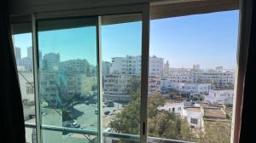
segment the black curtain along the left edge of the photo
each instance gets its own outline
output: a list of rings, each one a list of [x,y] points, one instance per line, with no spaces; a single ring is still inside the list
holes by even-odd
[[[0,89],[1,138],[0,142],[23,143],[25,126],[19,78],[15,64],[9,26],[8,0],[0,1]]]

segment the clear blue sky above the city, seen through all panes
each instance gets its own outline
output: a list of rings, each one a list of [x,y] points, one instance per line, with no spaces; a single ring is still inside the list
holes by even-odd
[[[151,20],[150,55],[169,60],[171,67],[234,68],[238,34],[238,10]],[[141,54],[142,23],[102,26],[102,60]],[[87,59],[96,64],[96,27],[43,31],[39,35],[43,55],[60,53],[61,60]],[[15,36],[15,45],[26,56],[31,34]]]

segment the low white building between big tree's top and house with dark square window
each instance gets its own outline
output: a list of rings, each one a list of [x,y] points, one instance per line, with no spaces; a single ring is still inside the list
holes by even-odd
[[[183,112],[184,103],[183,102],[173,102],[173,103],[166,103],[165,106],[159,106],[158,110],[165,110],[167,112],[175,113],[175,114],[181,114]]]

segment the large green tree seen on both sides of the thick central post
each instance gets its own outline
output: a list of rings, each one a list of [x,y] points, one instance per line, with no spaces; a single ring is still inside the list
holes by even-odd
[[[139,87],[136,80],[127,86],[127,91],[132,93],[131,102],[110,122],[109,126],[113,132],[139,134],[141,105]],[[168,139],[190,140],[191,134],[187,122],[170,112],[157,109],[158,106],[164,106],[165,102],[166,99],[162,94],[151,94],[149,96],[148,135]],[[124,140],[121,140],[121,142],[124,142]]]

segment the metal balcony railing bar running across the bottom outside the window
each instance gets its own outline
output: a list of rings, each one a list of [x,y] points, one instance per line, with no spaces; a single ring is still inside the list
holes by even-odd
[[[32,123],[25,123],[25,127],[36,129],[36,125]],[[56,127],[56,126],[49,126],[49,125],[42,125],[41,129],[59,131],[59,132],[68,132],[68,133],[74,133],[74,134],[88,134],[88,135],[98,134],[96,130],[73,129],[73,128]],[[131,141],[137,141],[137,142],[140,141],[140,136],[136,134],[120,134],[120,133],[103,132],[103,136],[108,138],[114,138],[114,139],[131,140]],[[189,141],[171,140],[171,139],[157,138],[157,137],[151,137],[151,136],[148,136],[147,142],[148,143],[191,143]]]

